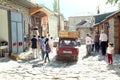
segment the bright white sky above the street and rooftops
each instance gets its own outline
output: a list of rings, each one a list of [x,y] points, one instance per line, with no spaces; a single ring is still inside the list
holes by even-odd
[[[53,11],[54,0],[36,0],[38,4],[44,5]],[[118,9],[115,5],[106,5],[107,0],[59,0],[60,13],[67,19],[71,16],[95,15],[97,6],[100,13],[112,12]]]

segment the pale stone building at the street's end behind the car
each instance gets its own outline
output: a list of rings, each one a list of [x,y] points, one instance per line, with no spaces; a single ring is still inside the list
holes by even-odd
[[[85,42],[86,34],[93,35],[93,24],[95,23],[93,16],[74,16],[69,17],[69,30],[77,30],[81,42]]]

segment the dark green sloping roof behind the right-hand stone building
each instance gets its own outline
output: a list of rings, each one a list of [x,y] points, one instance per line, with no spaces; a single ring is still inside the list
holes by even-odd
[[[109,12],[109,13],[104,13],[104,14],[99,14],[99,15],[95,15],[95,24],[100,23],[101,21],[103,21],[107,16],[113,14],[114,12]]]

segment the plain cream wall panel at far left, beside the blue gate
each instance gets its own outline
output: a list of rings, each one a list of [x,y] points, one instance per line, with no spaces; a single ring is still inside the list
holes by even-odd
[[[7,11],[0,9],[0,41],[8,42],[8,17]]]

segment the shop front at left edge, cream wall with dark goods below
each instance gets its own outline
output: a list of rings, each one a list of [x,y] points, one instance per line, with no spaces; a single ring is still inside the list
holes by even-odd
[[[7,11],[0,9],[0,57],[4,57],[8,52],[8,16]],[[7,51],[7,52],[6,52]]]

